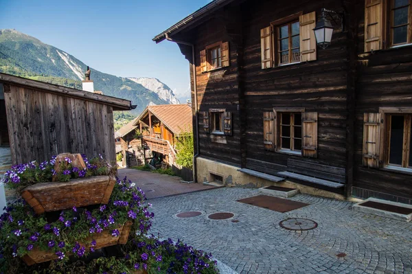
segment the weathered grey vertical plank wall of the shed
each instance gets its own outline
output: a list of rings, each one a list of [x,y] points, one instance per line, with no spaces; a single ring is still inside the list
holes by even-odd
[[[5,106],[14,164],[62,152],[115,161],[111,106],[16,86],[5,93]]]

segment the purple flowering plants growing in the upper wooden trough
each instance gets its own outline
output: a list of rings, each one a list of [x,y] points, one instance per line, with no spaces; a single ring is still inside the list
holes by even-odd
[[[111,165],[102,155],[93,157],[90,160],[86,155],[82,155],[86,168],[84,170],[72,167],[71,160],[65,158],[65,161],[58,163],[60,172],[54,170],[56,157],[52,157],[50,161],[37,163],[23,163],[13,165],[11,170],[4,174],[3,182],[9,188],[23,190],[23,188],[36,183],[51,182],[53,176],[56,176],[57,181],[65,182],[70,179],[78,179],[87,176],[113,175],[116,173],[117,165]]]

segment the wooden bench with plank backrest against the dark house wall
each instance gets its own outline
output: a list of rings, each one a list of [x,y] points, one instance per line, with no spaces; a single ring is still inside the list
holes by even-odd
[[[286,172],[279,172],[279,176],[332,188],[345,186],[345,168],[288,159],[287,170]]]

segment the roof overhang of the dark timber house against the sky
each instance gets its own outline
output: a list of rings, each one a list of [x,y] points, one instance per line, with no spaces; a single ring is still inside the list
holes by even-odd
[[[178,23],[172,25],[172,27],[169,27],[168,30],[165,30],[164,32],[161,32],[161,34],[158,34],[155,36],[155,38],[152,39],[152,41],[155,41],[156,43],[160,43],[161,41],[165,40],[166,34],[169,36],[172,36],[174,34],[177,34],[181,32],[182,30],[188,29],[190,27],[193,27],[195,23],[198,21],[201,21],[204,19],[206,16],[208,16],[211,12],[214,12],[215,10],[218,10],[222,8],[224,5],[227,5],[235,0],[214,0],[205,5],[203,8],[200,8],[199,10],[196,10],[196,12],[193,12],[189,16],[187,16],[185,19],[179,21]]]

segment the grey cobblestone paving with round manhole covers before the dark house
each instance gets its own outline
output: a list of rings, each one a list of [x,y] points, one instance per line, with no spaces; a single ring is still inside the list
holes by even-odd
[[[154,199],[152,232],[211,252],[238,273],[412,273],[412,223],[355,212],[352,203],[305,194],[290,199],[310,205],[286,213],[236,202],[259,194],[220,188]],[[189,211],[203,214],[176,217]],[[207,218],[216,212],[235,216]],[[279,222],[287,218],[308,218],[318,227],[286,230]]]

